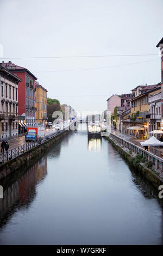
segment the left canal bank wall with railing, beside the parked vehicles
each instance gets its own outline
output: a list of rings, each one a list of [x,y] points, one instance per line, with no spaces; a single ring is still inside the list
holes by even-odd
[[[73,126],[73,124],[71,124]],[[20,149],[17,150],[17,155],[12,157],[8,157],[8,161],[4,162],[0,167],[0,180],[4,179],[7,175],[16,170],[23,168],[24,166],[29,167],[33,161],[37,160],[38,157],[42,156],[46,153],[58,140],[65,136],[68,132],[71,131],[70,129],[66,129],[64,131],[59,131],[57,134],[52,136],[46,136],[45,138],[41,139],[39,142],[32,142],[27,143],[21,146]],[[14,149],[10,150],[11,153]],[[8,153],[5,153],[8,155]]]

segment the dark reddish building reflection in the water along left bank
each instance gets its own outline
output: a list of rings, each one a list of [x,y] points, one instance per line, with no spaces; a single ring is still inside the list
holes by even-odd
[[[36,184],[39,184],[46,174],[47,156],[42,157],[27,172],[22,174],[20,178],[4,189],[3,199],[0,199],[0,227],[6,223],[16,208],[28,207],[36,196]]]

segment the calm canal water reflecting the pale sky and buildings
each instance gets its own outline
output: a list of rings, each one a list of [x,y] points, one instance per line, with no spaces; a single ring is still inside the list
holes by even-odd
[[[84,126],[3,184],[1,245],[162,244],[158,192]]]

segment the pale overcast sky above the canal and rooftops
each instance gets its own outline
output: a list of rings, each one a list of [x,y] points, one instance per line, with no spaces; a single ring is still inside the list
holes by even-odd
[[[112,94],[159,83],[159,56],[14,57],[158,54],[162,9],[162,0],[0,0],[3,59],[33,72],[48,97],[104,110]]]

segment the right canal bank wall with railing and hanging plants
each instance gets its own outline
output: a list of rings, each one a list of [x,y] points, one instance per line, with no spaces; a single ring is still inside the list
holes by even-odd
[[[114,133],[110,133],[108,136],[104,137],[114,146],[114,148],[116,148],[124,159],[135,168],[135,170],[143,174],[143,176],[151,181],[155,187],[158,188],[159,185],[163,184],[163,159],[137,147],[133,143],[125,141],[121,137],[114,135]],[[155,161],[157,162],[155,163]],[[158,161],[160,161],[160,163]],[[159,166],[161,166],[161,170],[159,169]]]

